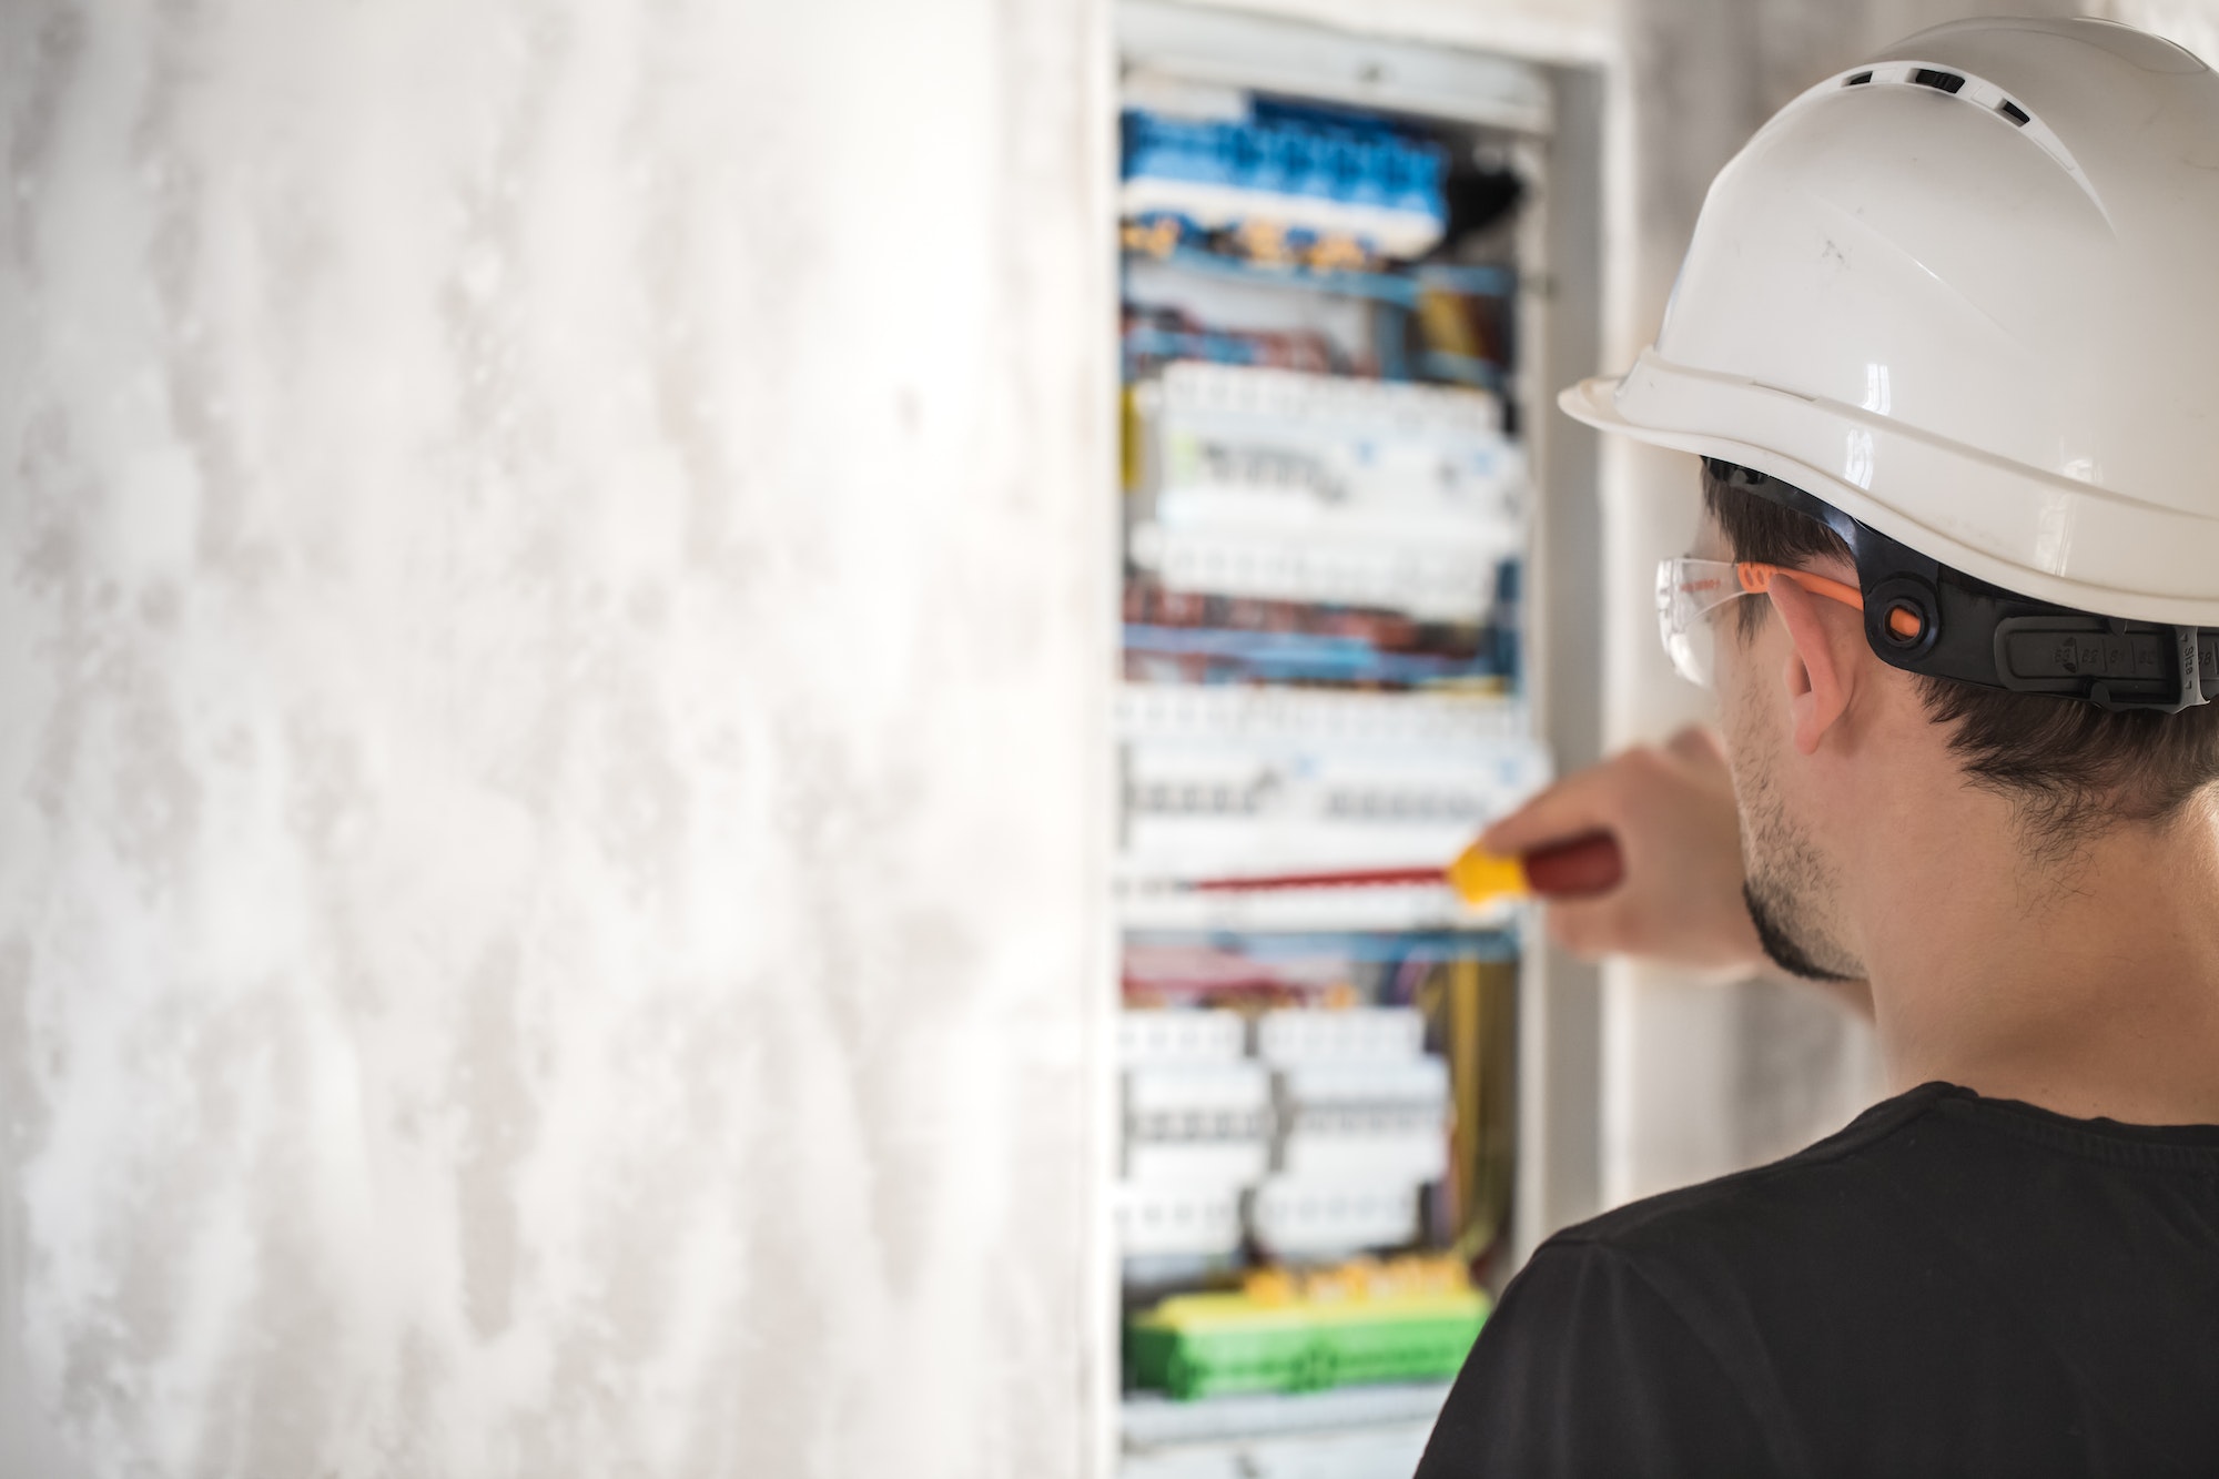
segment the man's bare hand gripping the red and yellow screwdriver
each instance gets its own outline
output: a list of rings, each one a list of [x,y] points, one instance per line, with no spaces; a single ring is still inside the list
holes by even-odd
[[[1742,833],[1718,735],[1682,728],[1567,775],[1480,837],[1522,855],[1580,833],[1618,837],[1624,877],[1609,893],[1549,904],[1549,933],[1580,957],[1646,955],[1698,970],[1764,970],[1742,904]]]

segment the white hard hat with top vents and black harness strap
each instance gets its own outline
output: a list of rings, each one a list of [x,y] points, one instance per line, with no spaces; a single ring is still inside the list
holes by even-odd
[[[1913,36],[1757,131],[1711,184],[1655,346],[1560,404],[1846,513],[1828,522],[1893,551],[1851,537],[1897,666],[2108,702],[2155,662],[2177,702],[2110,706],[2201,702],[2219,693],[2219,631],[2197,635],[2219,628],[2219,76],[2101,20]],[[1911,591],[1924,646],[1884,651],[1871,586],[1897,575],[1986,606]],[[2130,617],[2110,633],[2166,651],[2119,657],[2093,695],[2070,653],[2013,668],[1997,624],[2059,613]]]

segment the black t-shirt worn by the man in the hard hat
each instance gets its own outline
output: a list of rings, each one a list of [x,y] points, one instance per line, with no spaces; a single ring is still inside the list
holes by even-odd
[[[1569,1228],[1418,1466],[1462,1475],[2219,1475],[2219,1126],[1926,1084]]]

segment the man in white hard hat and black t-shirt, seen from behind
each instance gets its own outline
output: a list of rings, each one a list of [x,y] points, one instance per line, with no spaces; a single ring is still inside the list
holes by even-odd
[[[1895,1097],[1542,1246],[1420,1479],[2219,1470],[2215,242],[2219,78],[1942,27],[1766,124],[1567,393],[1704,457],[1660,622],[1722,753],[1491,842],[1609,826],[1562,937],[1828,982]]]

